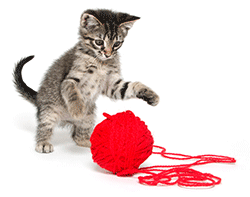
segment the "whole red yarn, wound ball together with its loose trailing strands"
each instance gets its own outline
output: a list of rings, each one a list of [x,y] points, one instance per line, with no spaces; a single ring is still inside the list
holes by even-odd
[[[179,185],[184,187],[212,187],[221,183],[221,178],[202,173],[190,167],[209,163],[235,163],[231,157],[221,155],[190,156],[167,153],[161,146],[153,145],[153,137],[145,122],[133,112],[126,111],[110,116],[99,123],[91,136],[91,152],[94,162],[117,176],[139,176],[145,185]],[[160,151],[153,151],[153,148]],[[167,159],[195,160],[190,164],[139,166],[151,155],[159,154]]]

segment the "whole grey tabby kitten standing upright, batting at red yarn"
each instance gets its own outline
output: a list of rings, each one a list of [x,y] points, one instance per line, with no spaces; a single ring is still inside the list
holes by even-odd
[[[159,97],[140,82],[121,77],[118,49],[139,17],[109,10],[86,10],[80,20],[79,42],[54,62],[35,92],[23,81],[21,71],[34,56],[19,61],[14,70],[17,91],[37,107],[36,151],[50,153],[53,128],[70,124],[77,145],[90,147],[95,101],[140,98],[155,106]]]

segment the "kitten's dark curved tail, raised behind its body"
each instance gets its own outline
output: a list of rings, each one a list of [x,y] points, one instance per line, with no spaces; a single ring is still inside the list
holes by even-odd
[[[21,96],[28,101],[30,101],[32,104],[36,105],[36,95],[37,92],[32,90],[30,87],[28,87],[22,78],[22,69],[24,64],[32,60],[34,56],[29,56],[26,58],[21,59],[15,66],[14,72],[13,72],[13,77],[14,77],[14,84],[16,87],[16,90],[21,94]]]

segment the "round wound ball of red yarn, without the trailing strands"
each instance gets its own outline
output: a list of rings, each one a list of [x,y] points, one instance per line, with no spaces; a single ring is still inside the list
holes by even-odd
[[[99,123],[90,138],[94,162],[118,175],[132,175],[152,154],[153,137],[147,125],[133,112],[110,116]]]

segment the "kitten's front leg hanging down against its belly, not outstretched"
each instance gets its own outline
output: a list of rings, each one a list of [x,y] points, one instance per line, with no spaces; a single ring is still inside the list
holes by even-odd
[[[77,81],[74,79],[65,79],[61,84],[61,93],[70,115],[74,119],[82,119],[86,107],[80,97],[80,92],[77,88]]]

